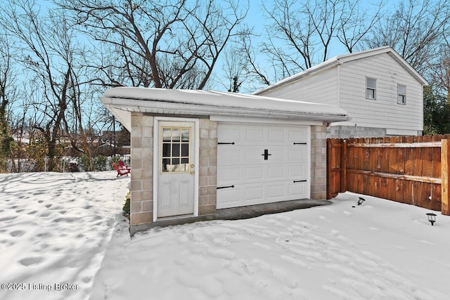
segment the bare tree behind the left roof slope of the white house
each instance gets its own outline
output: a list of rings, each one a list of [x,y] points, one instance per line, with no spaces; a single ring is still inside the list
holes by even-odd
[[[366,3],[370,7],[366,10],[359,0],[275,0],[270,7],[264,6],[269,24],[266,41],[259,48],[274,75],[264,74],[261,81],[284,79],[322,63],[332,46],[344,46],[349,52],[360,48],[368,30],[380,19],[383,1]],[[249,48],[247,52],[251,56]],[[253,72],[263,75],[260,70]]]

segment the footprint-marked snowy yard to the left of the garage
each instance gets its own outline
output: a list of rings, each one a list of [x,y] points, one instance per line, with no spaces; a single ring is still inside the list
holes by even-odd
[[[116,174],[0,174],[0,299],[89,297],[129,189]]]

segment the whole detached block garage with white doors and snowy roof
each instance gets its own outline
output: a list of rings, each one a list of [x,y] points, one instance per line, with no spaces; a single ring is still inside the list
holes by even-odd
[[[131,132],[131,234],[325,199],[326,124],[349,118],[333,105],[216,91],[120,87],[101,100]]]

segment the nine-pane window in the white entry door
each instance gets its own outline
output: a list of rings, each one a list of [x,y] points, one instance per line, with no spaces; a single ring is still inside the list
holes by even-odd
[[[189,127],[162,127],[162,173],[189,171]]]

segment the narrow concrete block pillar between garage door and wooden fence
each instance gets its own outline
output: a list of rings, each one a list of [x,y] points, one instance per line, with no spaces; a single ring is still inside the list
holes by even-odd
[[[311,199],[326,199],[326,126],[311,126]]]

